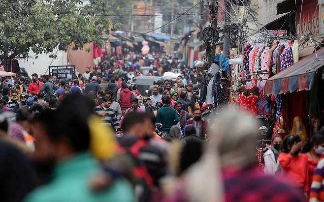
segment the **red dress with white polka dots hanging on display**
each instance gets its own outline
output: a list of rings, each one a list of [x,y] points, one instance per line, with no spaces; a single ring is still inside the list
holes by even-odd
[[[258,94],[259,87],[241,87],[238,95],[238,102],[241,104],[241,110],[251,115],[258,114]]]

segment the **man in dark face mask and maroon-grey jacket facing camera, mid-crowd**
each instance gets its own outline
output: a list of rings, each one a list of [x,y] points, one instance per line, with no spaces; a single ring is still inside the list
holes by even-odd
[[[196,135],[202,140],[206,139],[207,121],[201,117],[201,110],[199,108],[194,109],[194,117],[189,118],[187,125],[192,124],[196,129]]]

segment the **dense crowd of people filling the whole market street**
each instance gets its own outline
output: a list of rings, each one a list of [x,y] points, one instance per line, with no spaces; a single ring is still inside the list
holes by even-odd
[[[141,95],[132,79],[150,65],[146,76],[180,75]],[[129,54],[70,81],[1,78],[3,201],[324,201],[324,133],[274,136],[260,169],[255,117],[204,118],[201,76],[177,58]]]

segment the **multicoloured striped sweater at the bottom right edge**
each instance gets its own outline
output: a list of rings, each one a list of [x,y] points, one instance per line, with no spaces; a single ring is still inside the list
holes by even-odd
[[[313,182],[311,186],[310,202],[324,201],[324,159],[317,165],[313,173]]]

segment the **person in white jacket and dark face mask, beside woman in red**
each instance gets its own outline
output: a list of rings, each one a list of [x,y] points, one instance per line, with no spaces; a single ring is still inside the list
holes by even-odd
[[[278,156],[282,138],[279,135],[273,136],[271,141],[271,148],[263,154],[264,159],[264,173],[275,174],[278,170]]]

